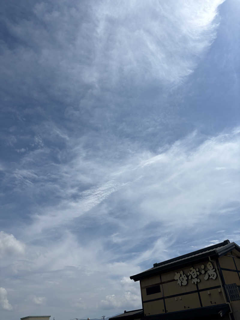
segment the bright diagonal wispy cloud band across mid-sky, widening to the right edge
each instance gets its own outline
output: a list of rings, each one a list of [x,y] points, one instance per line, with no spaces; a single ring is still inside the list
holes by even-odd
[[[159,208],[158,203],[159,205],[161,203],[160,207],[164,208],[163,211],[166,213],[167,210],[168,212],[164,217],[161,217],[161,220],[164,222],[174,221],[181,214],[181,219],[184,218],[182,222],[176,220],[176,224],[180,226],[183,223],[189,225],[195,223],[201,215],[208,216],[211,214],[213,206],[215,206],[214,212],[218,210],[220,213],[222,210],[227,210],[225,204],[222,205],[222,201],[228,202],[232,210],[238,206],[236,201],[238,182],[235,178],[238,170],[238,133],[236,131],[220,134],[203,141],[196,147],[198,136],[197,133],[189,135],[159,155],[153,155],[147,151],[142,154],[134,154],[132,158],[125,160],[125,164],[121,167],[119,164],[105,167],[104,164],[96,161],[91,165],[100,168],[98,173],[99,181],[102,181],[102,184],[84,191],[79,189],[77,191],[77,186],[81,186],[82,175],[75,173],[77,169],[74,169],[73,164],[57,165],[55,170],[59,181],[56,187],[63,186],[58,193],[60,202],[53,207],[42,209],[38,207],[38,215],[34,218],[36,222],[32,225],[30,232],[36,233],[37,228],[39,232],[52,228],[52,226],[55,228],[74,218],[84,216],[87,212],[94,214],[95,208],[99,208],[101,203],[108,202],[109,199],[111,204],[111,198],[115,199],[115,194],[118,195],[119,200],[114,200],[117,204],[113,203],[113,205],[118,205],[121,197],[125,199],[129,197],[129,200],[130,198],[132,201],[135,199],[133,202],[136,201],[138,212],[142,212],[143,215],[145,210]],[[77,164],[81,161],[81,158],[76,157],[73,163]],[[82,167],[84,167],[84,161]],[[224,167],[225,170],[217,170],[219,167]],[[54,176],[54,172],[52,175]],[[38,192],[41,192],[41,188],[47,188],[47,185],[42,184],[42,180],[44,178],[39,177],[39,182],[35,182]],[[148,195],[143,197],[146,189]],[[132,193],[132,190],[138,191]],[[224,190],[228,190],[227,194]],[[223,193],[226,194],[225,200],[223,200]],[[192,201],[188,207],[190,194]],[[229,197],[230,194],[234,198],[232,201]],[[179,202],[176,212],[172,210],[171,198],[175,199],[173,201],[174,207]],[[191,216],[189,211],[193,209],[193,199],[195,214]],[[122,206],[124,206],[124,202]],[[104,208],[100,210],[104,214]],[[153,220],[158,219],[160,213],[161,211],[155,210],[148,212],[148,222],[151,217]],[[95,218],[98,219],[98,214]],[[116,241],[116,239],[114,241],[116,243],[122,242]]]

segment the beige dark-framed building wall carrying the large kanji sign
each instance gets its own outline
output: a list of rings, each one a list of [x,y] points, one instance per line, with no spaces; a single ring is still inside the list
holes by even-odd
[[[229,266],[229,261],[226,259],[222,259],[222,263],[225,266]],[[227,299],[221,284],[216,261],[211,261],[211,264],[209,265],[209,260],[204,260],[200,263],[189,265],[188,267],[165,272],[161,275],[141,280],[140,286],[144,314],[148,316],[164,313],[164,302],[166,306],[166,312],[200,308],[201,303],[203,307],[226,303]],[[195,269],[197,275],[193,274],[193,269],[191,268]],[[178,274],[185,275],[185,282],[180,281],[177,278]],[[193,278],[191,274],[196,277]],[[236,276],[237,273],[235,274],[235,278]],[[193,279],[195,278],[199,279],[199,282],[194,280],[196,281],[196,284],[193,283]],[[234,280],[237,280],[235,278]],[[232,280],[233,278],[231,278],[229,281]],[[147,295],[147,288],[154,287],[158,284],[160,285],[161,292]],[[199,290],[199,294],[196,292],[197,290]]]

